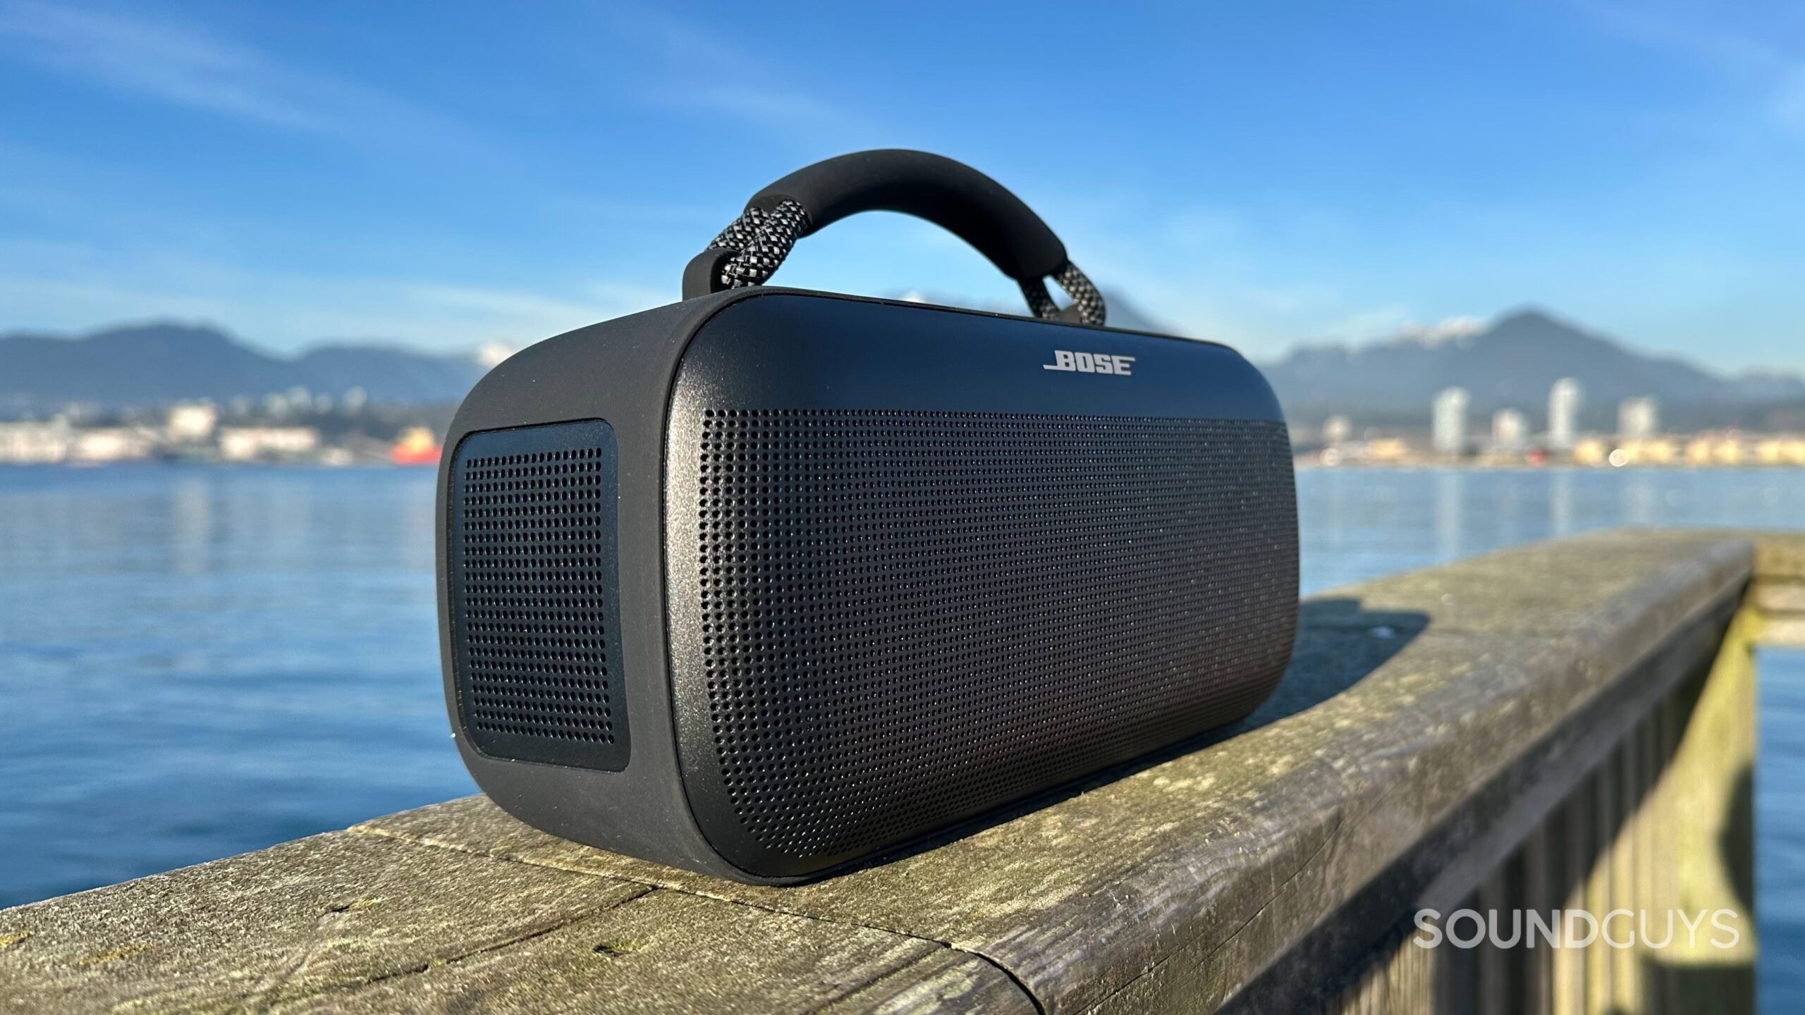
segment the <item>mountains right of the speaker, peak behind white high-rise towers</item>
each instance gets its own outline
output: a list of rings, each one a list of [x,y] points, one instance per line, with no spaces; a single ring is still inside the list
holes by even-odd
[[[1585,385],[1587,415],[1599,421],[1615,414],[1621,399],[1637,396],[1661,399],[1668,417],[1805,401],[1805,379],[1794,374],[1722,377],[1682,359],[1635,352],[1540,311],[1357,349],[1305,345],[1260,368],[1285,414],[1305,424],[1328,414],[1426,421],[1430,401],[1449,386],[1467,390],[1475,414],[1520,408],[1540,423],[1549,386],[1560,377]]]

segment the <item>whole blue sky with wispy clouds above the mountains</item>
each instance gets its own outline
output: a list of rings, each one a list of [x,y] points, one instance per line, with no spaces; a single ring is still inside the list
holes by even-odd
[[[1805,368],[1805,5],[0,0],[0,329],[538,338],[809,161],[942,152],[1256,358],[1534,303]],[[865,215],[778,280],[1013,302]]]

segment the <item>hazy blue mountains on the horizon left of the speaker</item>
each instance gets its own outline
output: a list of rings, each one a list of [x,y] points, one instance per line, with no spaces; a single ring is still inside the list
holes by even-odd
[[[182,399],[231,401],[305,386],[370,401],[457,401],[482,377],[475,356],[428,356],[383,345],[323,345],[287,359],[215,327],[148,323],[78,338],[0,336],[0,414],[42,414],[69,403],[99,408]]]

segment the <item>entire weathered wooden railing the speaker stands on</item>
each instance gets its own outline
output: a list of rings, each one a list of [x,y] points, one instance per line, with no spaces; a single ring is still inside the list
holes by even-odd
[[[4,910],[0,1010],[1745,1011],[1763,630],[1805,536],[1514,549],[1307,600],[1251,721],[890,863],[753,889],[453,800]],[[1462,908],[1740,934],[1417,945]]]

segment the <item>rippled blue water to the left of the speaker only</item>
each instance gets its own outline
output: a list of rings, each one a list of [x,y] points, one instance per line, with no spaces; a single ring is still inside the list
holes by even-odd
[[[431,489],[0,468],[0,905],[469,793]]]

